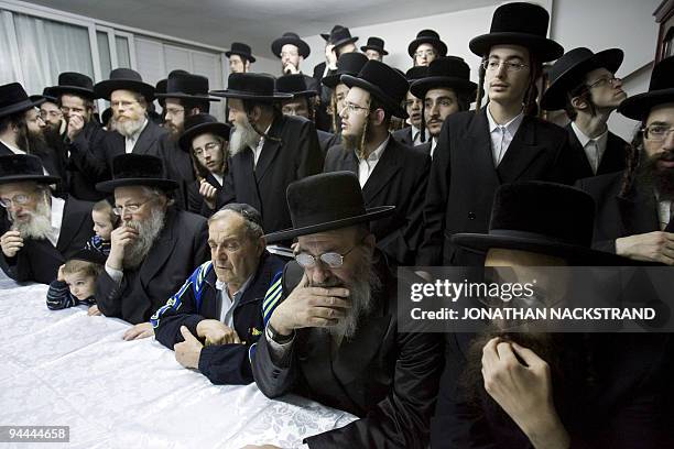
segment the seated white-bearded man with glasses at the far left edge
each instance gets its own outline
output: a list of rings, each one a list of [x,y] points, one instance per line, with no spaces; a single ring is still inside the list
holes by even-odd
[[[0,267],[17,281],[48,284],[94,234],[93,205],[54,197],[48,185],[58,180],[37,156],[0,156],[0,206],[11,223],[1,231]]]

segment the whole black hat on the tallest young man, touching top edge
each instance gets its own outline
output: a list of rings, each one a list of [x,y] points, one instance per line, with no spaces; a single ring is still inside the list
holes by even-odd
[[[533,3],[506,3],[497,8],[488,34],[474,37],[468,46],[478,56],[487,56],[494,45],[511,44],[526,47],[541,62],[562,56],[564,48],[547,39],[550,14]]]

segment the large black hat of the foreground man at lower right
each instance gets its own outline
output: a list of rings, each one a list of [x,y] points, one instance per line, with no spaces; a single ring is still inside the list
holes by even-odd
[[[591,249],[595,201],[585,191],[562,184],[503,184],[496,191],[489,232],[457,233],[452,242],[469,251],[491,248],[530,251],[587,265],[639,264]]]

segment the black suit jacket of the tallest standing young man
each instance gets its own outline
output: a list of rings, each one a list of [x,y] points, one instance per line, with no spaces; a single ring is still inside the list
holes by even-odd
[[[572,183],[564,129],[524,117],[508,152],[493,165],[486,107],[449,116],[433,157],[424,204],[424,241],[418,265],[480,265],[482,258],[450,242],[457,232],[486,233],[493,195],[521,180]]]

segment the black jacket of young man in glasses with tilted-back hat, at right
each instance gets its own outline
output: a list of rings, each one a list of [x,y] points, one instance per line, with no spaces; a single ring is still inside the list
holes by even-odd
[[[593,172],[593,167],[590,166],[587,160],[587,155],[585,154],[585,150],[583,150],[583,145],[580,145],[580,141],[574,132],[574,129],[572,128],[570,123],[567,124],[565,129],[568,133],[568,143],[570,150],[568,161],[572,164],[570,171],[574,174],[574,179],[580,179],[596,175],[598,176],[624,169],[627,150],[629,146],[626,141],[609,131],[606,142],[606,151],[601,156],[601,161],[599,161],[599,167],[597,168],[597,174],[595,175],[595,173]]]

